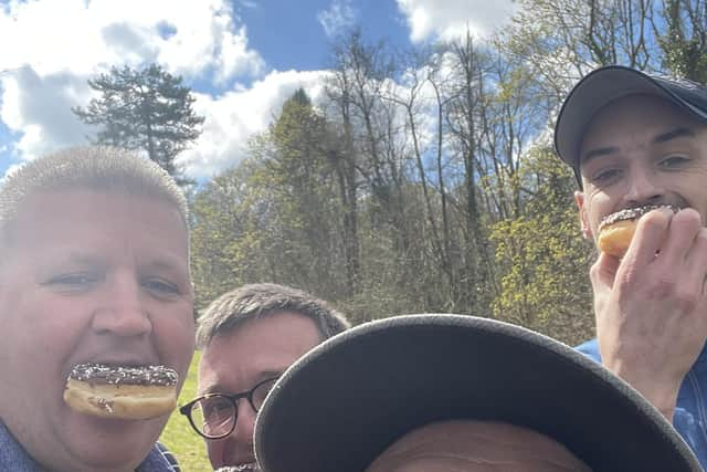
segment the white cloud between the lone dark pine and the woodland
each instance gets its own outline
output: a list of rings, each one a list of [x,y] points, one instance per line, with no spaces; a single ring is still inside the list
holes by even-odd
[[[194,109],[205,116],[203,133],[192,149],[179,156],[187,174],[210,178],[239,162],[247,153],[249,139],[278,114],[283,102],[303,87],[316,103],[324,92],[324,71],[272,72],[251,88],[228,92],[220,97],[198,94]]]

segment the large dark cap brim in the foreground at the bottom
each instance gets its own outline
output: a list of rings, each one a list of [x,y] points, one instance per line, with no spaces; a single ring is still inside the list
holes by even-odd
[[[700,471],[626,384],[534,332],[463,315],[358,326],[292,366],[255,428],[266,472],[361,472],[393,441],[446,419],[503,421],[564,444],[594,471]]]

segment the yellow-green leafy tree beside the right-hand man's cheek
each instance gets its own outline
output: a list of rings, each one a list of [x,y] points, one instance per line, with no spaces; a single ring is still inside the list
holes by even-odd
[[[526,180],[534,193],[525,211],[494,224],[502,291],[497,318],[583,340],[593,324],[588,273],[591,243],[578,238],[578,211],[568,201],[573,174],[547,147],[529,153]]]

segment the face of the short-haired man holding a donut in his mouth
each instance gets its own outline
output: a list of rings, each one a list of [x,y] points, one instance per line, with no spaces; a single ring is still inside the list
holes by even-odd
[[[0,264],[0,416],[52,470],[134,471],[168,416],[98,419],[63,399],[72,366],[162,364],[193,354],[188,238],[150,198],[67,190],[31,197]]]

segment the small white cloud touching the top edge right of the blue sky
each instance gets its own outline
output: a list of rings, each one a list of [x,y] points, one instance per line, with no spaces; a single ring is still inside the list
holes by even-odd
[[[466,34],[488,36],[507,22],[517,6],[513,0],[397,0],[407,17],[412,42],[431,36],[449,40]]]

